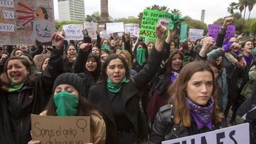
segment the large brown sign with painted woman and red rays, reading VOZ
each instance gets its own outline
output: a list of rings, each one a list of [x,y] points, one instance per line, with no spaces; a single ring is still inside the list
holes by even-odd
[[[46,11],[40,13],[40,11]],[[53,0],[0,1],[1,45],[52,45]]]

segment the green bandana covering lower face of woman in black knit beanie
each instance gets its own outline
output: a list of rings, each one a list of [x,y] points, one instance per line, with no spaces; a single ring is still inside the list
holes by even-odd
[[[78,115],[78,96],[70,92],[58,92],[53,96],[58,116],[77,116]]]

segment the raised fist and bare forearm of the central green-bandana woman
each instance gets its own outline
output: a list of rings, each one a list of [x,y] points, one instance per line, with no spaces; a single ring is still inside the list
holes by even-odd
[[[156,26],[156,50],[161,52],[164,47],[164,39],[166,37],[166,28],[164,26]]]

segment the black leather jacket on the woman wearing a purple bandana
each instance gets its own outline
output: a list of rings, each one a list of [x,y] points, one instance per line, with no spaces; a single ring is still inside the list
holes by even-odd
[[[161,143],[164,140],[172,140],[175,138],[182,138],[189,135],[196,135],[199,133],[206,133],[208,131],[214,131],[223,127],[227,127],[224,119],[221,123],[213,124],[213,128],[209,130],[204,127],[200,130],[196,128],[196,123],[192,118],[191,127],[187,128],[185,126],[178,126],[174,124],[174,113],[173,105],[166,104],[159,109],[156,115],[156,120],[151,128],[151,136],[149,138],[150,143]]]

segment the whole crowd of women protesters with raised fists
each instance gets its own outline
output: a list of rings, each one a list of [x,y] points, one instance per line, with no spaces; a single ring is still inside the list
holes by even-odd
[[[55,46],[1,45],[0,143],[40,143],[31,114],[90,116],[90,142],[100,144],[161,143],[239,116],[256,143],[256,36],[224,40],[231,23],[196,42],[176,43],[176,28],[159,25],[149,43],[129,32],[68,41],[62,31]]]

